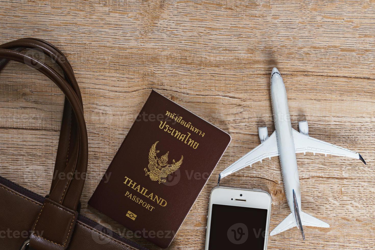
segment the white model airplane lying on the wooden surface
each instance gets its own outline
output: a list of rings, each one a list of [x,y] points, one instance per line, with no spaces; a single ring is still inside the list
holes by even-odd
[[[279,234],[290,228],[297,227],[301,231],[303,240],[305,240],[302,226],[329,228],[329,225],[302,211],[296,153],[306,154],[306,152],[311,152],[314,155],[315,153],[322,153],[326,156],[327,154],[332,154],[360,159],[365,164],[366,162],[359,153],[309,136],[307,121],[299,122],[300,132],[292,128],[287,92],[280,72],[276,68],[273,68],[271,73],[271,101],[275,131],[271,136],[268,136],[267,127],[260,127],[258,133],[261,144],[221,172],[219,181],[221,178],[246,166],[251,166],[258,161],[262,162],[266,158],[271,159],[273,156],[279,156],[285,196],[287,197],[291,214],[273,229],[270,235]]]

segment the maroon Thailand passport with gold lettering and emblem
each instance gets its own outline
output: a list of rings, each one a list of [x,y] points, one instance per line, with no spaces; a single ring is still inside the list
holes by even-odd
[[[166,248],[230,141],[153,90],[89,204]]]

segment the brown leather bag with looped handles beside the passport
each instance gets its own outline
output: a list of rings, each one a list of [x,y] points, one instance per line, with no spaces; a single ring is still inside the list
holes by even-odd
[[[37,49],[54,60],[54,69],[21,53]],[[87,171],[87,130],[77,81],[65,55],[50,43],[33,38],[0,45],[0,70],[9,60],[27,64],[55,82],[65,94],[54,178],[44,198],[0,176],[0,249],[4,250],[144,250],[78,214]],[[72,174],[74,173],[74,174]]]

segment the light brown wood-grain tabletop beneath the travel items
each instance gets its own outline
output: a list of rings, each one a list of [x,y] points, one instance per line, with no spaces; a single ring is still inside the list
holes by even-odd
[[[89,134],[82,213],[149,247],[87,205],[155,89],[233,138],[169,249],[203,249],[210,190],[220,171],[274,130],[270,72],[284,77],[292,126],[367,160],[297,155],[302,208],[331,225],[270,237],[269,249],[375,249],[375,1],[0,1],[0,40],[38,37],[68,57]],[[41,60],[48,62],[46,58]],[[0,74],[0,175],[48,193],[63,96],[19,63]],[[268,190],[270,228],[289,213],[278,157],[222,180]],[[219,240],[219,239],[218,239]]]

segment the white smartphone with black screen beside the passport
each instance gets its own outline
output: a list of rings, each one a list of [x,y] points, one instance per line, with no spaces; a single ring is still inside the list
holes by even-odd
[[[260,189],[212,189],[205,250],[266,250],[271,204],[271,195]]]

